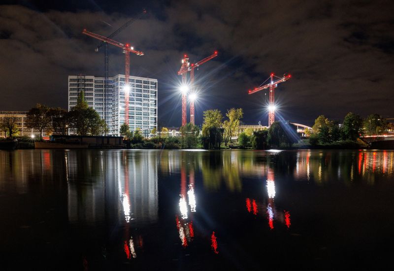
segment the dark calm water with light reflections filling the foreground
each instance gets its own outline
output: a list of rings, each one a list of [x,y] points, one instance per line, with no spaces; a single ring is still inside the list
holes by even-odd
[[[0,151],[1,270],[376,269],[394,152]]]

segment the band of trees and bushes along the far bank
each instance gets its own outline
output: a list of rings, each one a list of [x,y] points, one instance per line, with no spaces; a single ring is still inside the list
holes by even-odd
[[[269,128],[259,131],[246,129],[239,133],[243,118],[242,108],[230,108],[223,115],[218,109],[203,112],[201,127],[188,123],[179,129],[180,136],[170,136],[169,130],[161,127],[149,130],[153,137],[142,135],[140,128],[131,131],[128,124],[122,124],[119,134],[123,136],[123,145],[113,148],[130,149],[367,149],[371,143],[361,140],[362,135],[382,135],[394,130],[394,124],[388,123],[379,114],[368,115],[365,119],[349,112],[342,123],[329,120],[320,115],[312,129],[305,128],[304,137],[297,133],[296,126],[286,121],[276,121]],[[34,148],[34,141],[42,141],[43,133],[47,135],[67,135],[70,131],[78,136],[105,135],[107,125],[93,108],[85,101],[81,91],[76,106],[70,111],[51,108],[37,104],[27,113],[27,128],[39,132],[39,138],[17,137],[19,130],[17,119],[5,117],[0,122],[0,130],[5,140],[18,138],[19,149]],[[201,130],[201,131],[200,131]],[[145,131],[146,132],[146,131]],[[157,136],[158,135],[158,136]],[[0,139],[5,145],[4,139]],[[391,141],[391,140],[388,140]],[[392,142],[393,143],[393,142]],[[382,148],[394,144],[381,144]],[[91,148],[108,148],[107,146],[90,146]]]

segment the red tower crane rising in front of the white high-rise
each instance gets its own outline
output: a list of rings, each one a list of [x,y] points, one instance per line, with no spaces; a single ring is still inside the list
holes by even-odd
[[[130,85],[129,85],[129,77],[130,77],[130,52],[133,54],[136,54],[137,56],[143,56],[144,53],[141,51],[136,51],[134,50],[133,47],[131,47],[128,43],[123,44],[121,42],[112,40],[108,37],[95,34],[92,32],[87,31],[84,29],[82,31],[82,34],[97,38],[101,41],[104,41],[108,44],[112,44],[114,46],[122,48],[122,52],[125,54],[125,85],[123,87],[123,90],[125,91],[125,123],[129,124],[129,95],[130,95]]]

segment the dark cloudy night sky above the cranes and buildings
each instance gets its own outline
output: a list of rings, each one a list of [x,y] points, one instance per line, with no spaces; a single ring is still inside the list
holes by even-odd
[[[196,124],[203,110],[242,107],[246,124],[266,125],[264,92],[247,91],[271,72],[292,75],[276,89],[283,119],[311,125],[320,114],[341,121],[349,111],[394,117],[393,1],[58,2],[0,5],[0,110],[38,102],[67,108],[68,75],[104,73],[98,40],[82,30],[109,35],[146,8],[114,39],[145,53],[131,55],[131,75],[159,80],[163,125],[181,123],[182,55],[194,63],[214,50],[219,56],[196,72]],[[124,74],[124,54],[110,48],[110,76]]]

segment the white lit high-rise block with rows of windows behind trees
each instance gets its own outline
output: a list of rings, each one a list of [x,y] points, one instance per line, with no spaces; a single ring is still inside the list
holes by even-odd
[[[105,119],[109,135],[119,135],[120,126],[125,123],[125,75],[108,79],[105,91],[104,77],[68,76],[68,110],[76,105],[79,92],[84,91],[85,101]],[[130,76],[130,88],[130,130],[139,128],[143,135],[149,136],[154,128],[157,129],[157,79]]]

